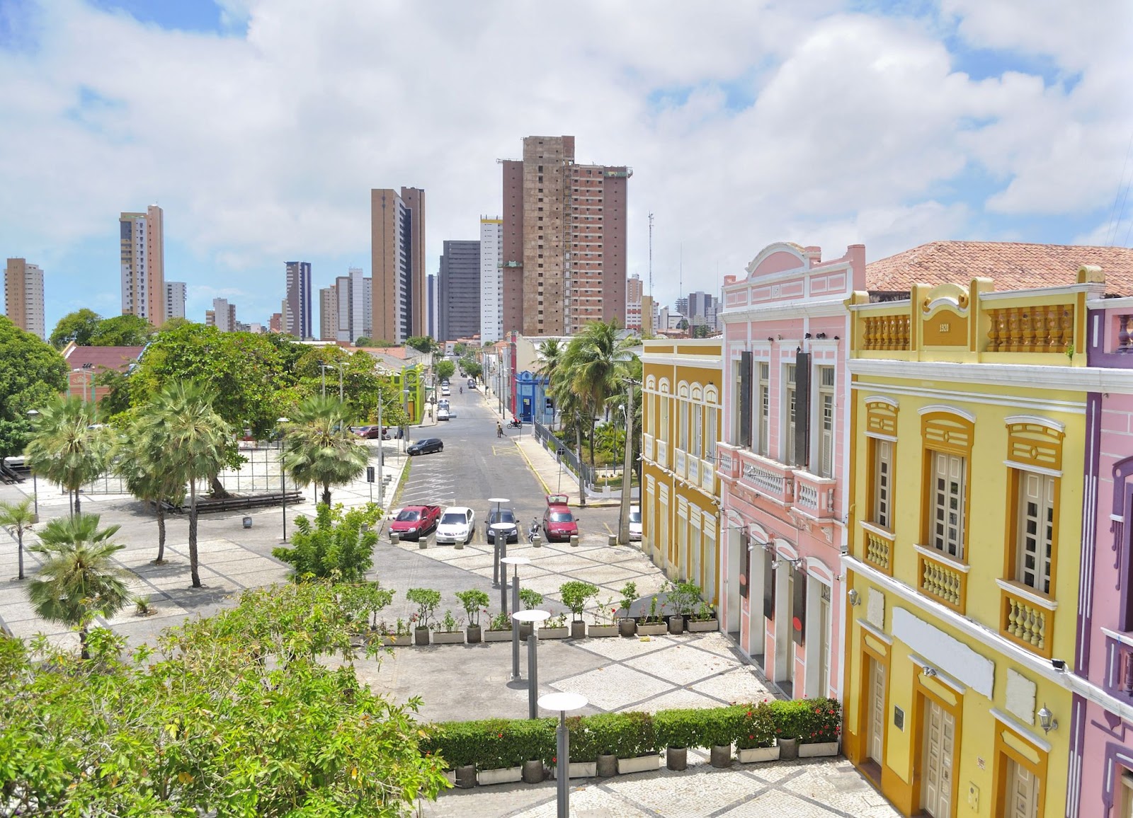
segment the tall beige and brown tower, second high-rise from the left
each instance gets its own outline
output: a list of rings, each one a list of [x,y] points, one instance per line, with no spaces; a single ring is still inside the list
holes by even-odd
[[[165,239],[157,205],[118,219],[121,244],[122,314],[138,315],[154,326],[165,321]]]

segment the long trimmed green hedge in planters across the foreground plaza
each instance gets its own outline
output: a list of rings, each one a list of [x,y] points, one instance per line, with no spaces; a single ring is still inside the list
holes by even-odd
[[[552,764],[555,757],[555,718],[487,718],[435,725],[421,742],[424,752],[437,755],[450,769],[518,767],[525,761]],[[765,701],[758,705],[603,713],[566,719],[572,761],[596,761],[600,755],[633,758],[666,747],[738,749],[772,747],[776,739],[799,739],[811,744],[836,741],[842,708],[834,699]]]

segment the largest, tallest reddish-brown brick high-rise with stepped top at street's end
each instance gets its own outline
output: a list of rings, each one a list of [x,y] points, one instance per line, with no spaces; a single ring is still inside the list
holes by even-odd
[[[625,205],[633,171],[577,164],[573,136],[528,136],[503,164],[503,329],[573,334],[625,323]]]

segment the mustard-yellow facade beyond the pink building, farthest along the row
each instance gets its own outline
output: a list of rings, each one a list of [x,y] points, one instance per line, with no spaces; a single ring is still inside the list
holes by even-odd
[[[716,442],[719,339],[646,341],[642,365],[641,549],[670,579],[719,602]]]

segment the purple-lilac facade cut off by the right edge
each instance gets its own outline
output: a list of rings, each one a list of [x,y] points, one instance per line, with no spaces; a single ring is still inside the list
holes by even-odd
[[[1079,639],[1067,815],[1133,816],[1133,298],[1088,303]],[[1076,809],[1076,811],[1075,811]]]

